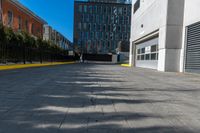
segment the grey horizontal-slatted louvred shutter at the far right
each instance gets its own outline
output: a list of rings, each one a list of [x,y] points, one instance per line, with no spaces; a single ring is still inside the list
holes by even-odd
[[[185,71],[200,72],[200,23],[188,27]]]

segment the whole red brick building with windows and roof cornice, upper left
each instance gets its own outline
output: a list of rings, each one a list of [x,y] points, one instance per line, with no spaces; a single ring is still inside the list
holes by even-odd
[[[43,36],[46,22],[17,0],[0,0],[2,22],[14,31],[26,31],[36,37]]]

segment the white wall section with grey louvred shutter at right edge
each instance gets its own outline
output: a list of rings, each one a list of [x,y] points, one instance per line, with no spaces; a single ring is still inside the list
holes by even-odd
[[[183,38],[180,55],[181,72],[200,73],[200,1],[185,0]]]

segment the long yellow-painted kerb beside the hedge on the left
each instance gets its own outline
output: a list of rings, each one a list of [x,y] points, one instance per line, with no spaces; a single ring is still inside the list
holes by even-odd
[[[23,69],[23,68],[33,68],[33,67],[45,67],[45,66],[55,66],[64,64],[74,64],[75,62],[50,62],[50,63],[35,63],[35,64],[12,64],[12,65],[0,65],[0,71],[2,70],[13,70],[13,69]]]

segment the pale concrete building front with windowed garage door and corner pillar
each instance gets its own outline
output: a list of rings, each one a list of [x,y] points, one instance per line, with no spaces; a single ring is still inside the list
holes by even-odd
[[[184,0],[133,3],[130,65],[180,71],[184,5]]]

